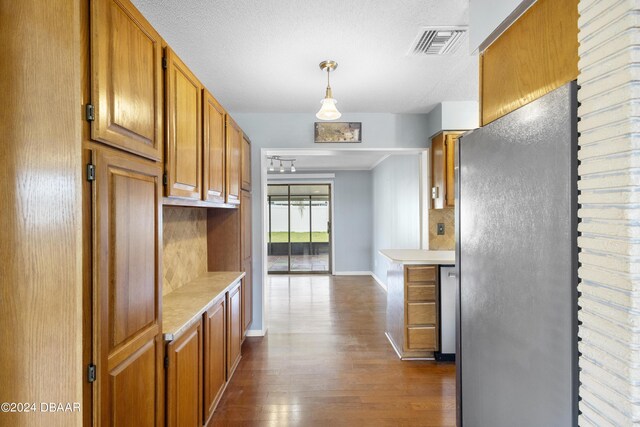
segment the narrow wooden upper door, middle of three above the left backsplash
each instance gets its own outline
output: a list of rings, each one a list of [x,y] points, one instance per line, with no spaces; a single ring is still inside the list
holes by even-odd
[[[225,111],[207,90],[203,96],[203,200],[224,203]]]

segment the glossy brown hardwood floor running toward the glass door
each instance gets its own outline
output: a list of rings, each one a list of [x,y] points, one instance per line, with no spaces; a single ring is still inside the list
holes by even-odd
[[[454,426],[453,363],[403,362],[368,276],[270,276],[269,330],[247,338],[214,426]]]

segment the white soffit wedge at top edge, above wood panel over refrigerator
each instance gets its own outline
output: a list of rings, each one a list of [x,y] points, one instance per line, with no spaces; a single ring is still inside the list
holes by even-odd
[[[499,27],[499,32],[504,31],[534,2],[535,0],[470,0],[469,49],[471,52],[477,51]]]

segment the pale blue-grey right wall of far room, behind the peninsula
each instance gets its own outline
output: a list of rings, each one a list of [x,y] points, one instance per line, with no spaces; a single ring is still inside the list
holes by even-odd
[[[387,283],[380,249],[420,248],[420,156],[391,156],[373,170],[373,272]]]

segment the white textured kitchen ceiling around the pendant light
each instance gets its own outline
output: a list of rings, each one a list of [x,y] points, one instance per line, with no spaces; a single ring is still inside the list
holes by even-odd
[[[426,113],[476,100],[477,57],[410,56],[423,26],[467,25],[468,0],[133,0],[231,112],[315,112],[324,59],[343,112]]]

